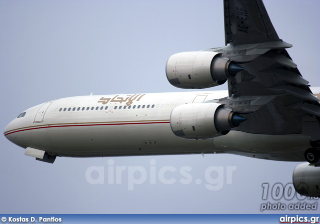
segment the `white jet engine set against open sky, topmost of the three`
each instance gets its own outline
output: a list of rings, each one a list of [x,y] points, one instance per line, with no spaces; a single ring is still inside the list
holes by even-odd
[[[171,85],[182,89],[203,89],[223,84],[243,68],[211,51],[172,55],[165,66]]]

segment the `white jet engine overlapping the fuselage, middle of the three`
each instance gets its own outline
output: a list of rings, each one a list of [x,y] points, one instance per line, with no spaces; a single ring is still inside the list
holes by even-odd
[[[224,104],[192,103],[175,107],[170,115],[173,133],[181,138],[207,139],[227,134],[246,118]]]

